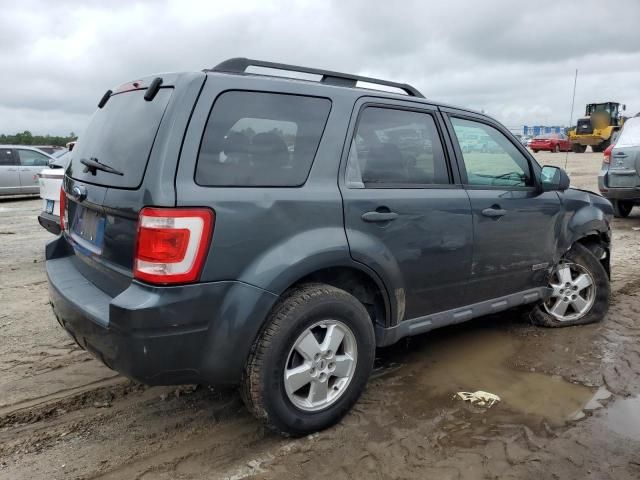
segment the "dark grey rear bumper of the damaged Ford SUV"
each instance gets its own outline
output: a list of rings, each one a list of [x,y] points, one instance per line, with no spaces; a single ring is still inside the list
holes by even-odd
[[[110,297],[82,276],[73,255],[56,258],[61,250],[50,244],[46,262],[58,322],[105,365],[149,385],[237,383],[277,300],[242,282],[153,287],[132,281]]]

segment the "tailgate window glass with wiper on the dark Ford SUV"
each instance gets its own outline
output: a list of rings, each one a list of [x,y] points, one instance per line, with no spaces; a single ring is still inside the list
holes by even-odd
[[[161,88],[150,102],[144,99],[145,92],[134,90],[113,95],[103,108],[98,109],[73,149],[69,176],[112,187],[140,186],[173,89]],[[122,175],[102,170],[92,175],[90,171],[85,172],[82,159],[97,160]]]

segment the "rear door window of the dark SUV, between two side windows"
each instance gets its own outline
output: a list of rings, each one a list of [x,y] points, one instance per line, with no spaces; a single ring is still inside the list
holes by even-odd
[[[353,188],[448,184],[447,162],[433,117],[365,108],[351,142],[346,181]]]

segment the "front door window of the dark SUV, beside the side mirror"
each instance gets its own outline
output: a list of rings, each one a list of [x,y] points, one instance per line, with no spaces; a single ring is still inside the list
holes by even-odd
[[[451,123],[462,150],[468,185],[533,185],[529,161],[499,130],[455,117]]]

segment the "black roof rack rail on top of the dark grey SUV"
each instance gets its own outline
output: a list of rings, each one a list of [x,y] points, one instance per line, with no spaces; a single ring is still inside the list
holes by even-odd
[[[419,90],[406,83],[396,83],[378,78],[361,77],[359,75],[351,75],[349,73],[332,72],[319,68],[299,67],[297,65],[287,65],[284,63],[265,62],[263,60],[252,60],[250,58],[230,58],[219,63],[213,68],[205,69],[205,72],[227,72],[227,73],[246,73],[249,67],[272,68],[274,70],[284,70],[290,72],[308,73],[311,75],[320,75],[320,82],[329,85],[338,85],[341,87],[357,87],[358,82],[372,83],[376,85],[384,85],[386,87],[398,88],[404,91],[410,97],[424,98]]]

